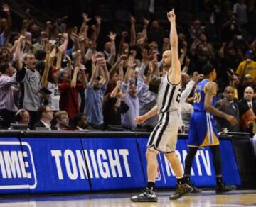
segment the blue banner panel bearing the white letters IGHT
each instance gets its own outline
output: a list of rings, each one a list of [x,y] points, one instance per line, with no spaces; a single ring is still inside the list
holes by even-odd
[[[82,139],[92,190],[144,187],[136,138]]]

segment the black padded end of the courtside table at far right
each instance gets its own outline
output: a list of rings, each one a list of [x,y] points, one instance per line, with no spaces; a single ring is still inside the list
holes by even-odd
[[[253,155],[252,144],[248,137],[237,137],[232,140],[242,186],[251,188],[256,186],[256,159]],[[224,158],[224,157],[223,157]]]

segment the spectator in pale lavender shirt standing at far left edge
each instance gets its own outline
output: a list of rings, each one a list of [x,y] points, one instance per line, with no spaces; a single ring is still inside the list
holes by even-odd
[[[14,67],[11,63],[3,62],[0,64],[0,116],[3,118],[2,127],[9,128],[10,123],[14,123],[14,116],[18,111],[14,103],[14,87],[16,83]]]

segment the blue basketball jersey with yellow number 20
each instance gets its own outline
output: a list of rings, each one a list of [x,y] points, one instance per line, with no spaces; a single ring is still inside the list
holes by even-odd
[[[193,94],[193,108],[194,111],[206,111],[204,108],[205,91],[204,87],[210,82],[209,79],[203,79],[196,85],[196,89]],[[212,106],[215,106],[216,97],[213,97]]]

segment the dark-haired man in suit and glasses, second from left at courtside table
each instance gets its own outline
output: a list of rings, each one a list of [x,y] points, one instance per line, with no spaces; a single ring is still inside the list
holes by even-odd
[[[53,111],[50,106],[40,106],[38,108],[38,117],[40,117],[40,120],[33,125],[33,130],[36,130],[38,127],[44,127],[51,130],[50,121],[53,119]]]

